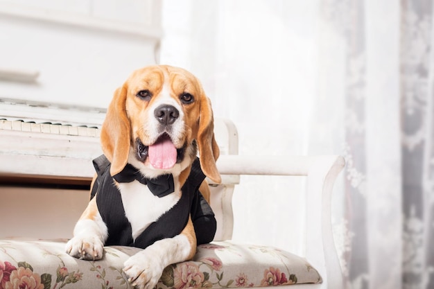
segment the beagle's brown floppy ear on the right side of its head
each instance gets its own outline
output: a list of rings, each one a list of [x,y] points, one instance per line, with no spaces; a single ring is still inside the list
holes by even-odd
[[[220,155],[220,150],[214,138],[214,116],[211,109],[211,101],[205,94],[200,100],[200,119],[198,130],[198,146],[200,154],[200,167],[203,173],[216,183],[221,182],[216,161]]]

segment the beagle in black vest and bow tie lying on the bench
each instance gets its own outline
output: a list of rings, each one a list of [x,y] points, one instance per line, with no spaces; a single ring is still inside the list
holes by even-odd
[[[205,175],[221,179],[210,100],[184,69],[138,69],[114,92],[101,146],[92,199],[66,251],[98,260],[104,245],[141,247],[123,272],[132,286],[154,288],[166,266],[214,238]]]

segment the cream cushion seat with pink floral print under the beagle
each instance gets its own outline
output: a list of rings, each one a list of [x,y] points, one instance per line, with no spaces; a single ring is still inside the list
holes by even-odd
[[[0,240],[0,288],[131,288],[123,262],[140,249],[105,247],[100,261],[75,259],[66,240]],[[193,261],[168,266],[157,288],[227,288],[320,283],[304,259],[233,241],[200,245]]]

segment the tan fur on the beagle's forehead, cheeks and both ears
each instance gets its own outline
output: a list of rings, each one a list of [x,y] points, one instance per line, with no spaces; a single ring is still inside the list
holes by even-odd
[[[146,135],[141,135],[141,116],[157,97],[146,103],[137,98],[137,91],[148,89],[153,96],[157,96],[165,81],[170,82],[171,96],[177,101],[180,101],[177,97],[183,92],[195,97],[192,105],[184,107],[185,141],[191,143],[196,139],[203,172],[214,182],[221,182],[216,168],[220,152],[214,138],[214,116],[209,98],[195,76],[184,69],[168,66],[145,67],[134,71],[123,86],[116,89],[101,128],[103,152],[112,162],[111,175],[116,175],[125,167],[134,139],[137,136],[147,139]]]

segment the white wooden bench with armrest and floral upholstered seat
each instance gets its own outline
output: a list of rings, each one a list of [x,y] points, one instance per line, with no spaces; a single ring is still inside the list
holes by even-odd
[[[342,157],[236,155],[238,142],[232,123],[218,121],[216,130],[223,152],[217,164],[223,176],[223,184],[210,184],[211,207],[218,222],[216,238],[212,243],[198,246],[193,260],[168,266],[157,289],[266,286],[290,286],[293,289],[342,288],[330,220],[331,191],[344,166]],[[1,133],[0,128],[0,147]],[[70,137],[67,143],[76,141],[73,136]],[[73,146],[69,151],[72,148]],[[78,154],[77,152],[76,155]],[[63,161],[64,158],[62,157]],[[69,159],[69,164],[73,164],[73,161]],[[61,166],[58,172],[60,170]],[[306,194],[307,203],[308,229],[303,238],[306,240],[306,254],[296,256],[275,247],[231,240],[232,193],[239,182],[239,175],[287,175],[306,179],[306,191],[302,192]],[[84,261],[65,253],[66,242],[66,239],[0,240],[0,289],[131,288],[122,272],[123,263],[139,249],[105,247],[103,259]]]

